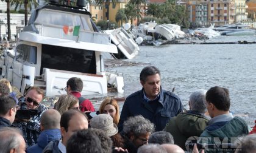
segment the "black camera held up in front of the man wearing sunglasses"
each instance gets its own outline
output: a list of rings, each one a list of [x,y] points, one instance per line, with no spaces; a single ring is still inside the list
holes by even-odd
[[[15,118],[17,120],[29,120],[31,116],[38,114],[37,109],[27,109],[26,98],[19,98],[20,109],[17,110]]]

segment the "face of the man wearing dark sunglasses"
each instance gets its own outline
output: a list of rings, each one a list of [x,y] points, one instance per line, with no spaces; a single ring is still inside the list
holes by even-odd
[[[27,109],[37,109],[42,100],[43,95],[38,94],[36,90],[29,90],[26,94]]]

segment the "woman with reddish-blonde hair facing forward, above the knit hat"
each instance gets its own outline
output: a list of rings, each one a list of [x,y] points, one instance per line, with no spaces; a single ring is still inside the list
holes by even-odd
[[[99,114],[109,114],[117,125],[120,118],[118,102],[114,98],[106,98],[99,106]]]

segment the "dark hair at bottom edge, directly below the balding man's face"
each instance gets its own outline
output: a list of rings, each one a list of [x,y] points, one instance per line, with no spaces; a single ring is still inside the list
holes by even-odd
[[[66,145],[67,153],[103,153],[101,140],[91,129],[83,129],[75,132]]]

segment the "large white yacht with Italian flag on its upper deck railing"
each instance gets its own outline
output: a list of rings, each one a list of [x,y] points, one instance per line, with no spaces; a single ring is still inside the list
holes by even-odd
[[[82,95],[107,94],[102,54],[118,50],[110,35],[97,31],[90,16],[83,6],[38,7],[20,33],[15,55],[5,52],[1,57],[2,77],[22,93],[26,86],[37,86],[46,96],[66,94],[66,81],[79,77],[84,81]],[[109,78],[115,79],[118,92],[124,92],[122,75]]]

